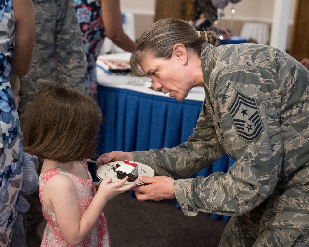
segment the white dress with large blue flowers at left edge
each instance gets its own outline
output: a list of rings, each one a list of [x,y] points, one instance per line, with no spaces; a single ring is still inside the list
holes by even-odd
[[[8,246],[15,223],[22,182],[19,118],[9,83],[14,50],[12,0],[0,0],[0,246]]]

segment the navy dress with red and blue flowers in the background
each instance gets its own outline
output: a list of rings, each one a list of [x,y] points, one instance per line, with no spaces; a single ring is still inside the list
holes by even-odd
[[[105,39],[101,5],[96,0],[73,0],[76,16],[82,31],[87,55],[86,93],[96,99],[97,79],[95,62]]]

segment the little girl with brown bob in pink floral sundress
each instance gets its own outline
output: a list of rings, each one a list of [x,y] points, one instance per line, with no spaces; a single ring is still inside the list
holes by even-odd
[[[42,87],[29,109],[24,151],[44,158],[39,194],[48,222],[41,246],[110,246],[102,210],[135,183],[93,182],[85,159],[94,156],[101,123],[95,100],[67,86]]]

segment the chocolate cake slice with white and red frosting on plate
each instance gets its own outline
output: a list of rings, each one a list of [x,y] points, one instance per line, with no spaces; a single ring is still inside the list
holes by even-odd
[[[137,164],[127,160],[117,163],[113,170],[116,172],[118,179],[123,179],[125,176],[128,176],[128,182],[133,182],[138,177]]]

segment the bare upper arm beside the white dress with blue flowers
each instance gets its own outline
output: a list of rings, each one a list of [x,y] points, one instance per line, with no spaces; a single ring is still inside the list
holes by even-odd
[[[11,73],[26,75],[29,71],[35,43],[35,18],[32,0],[13,0],[15,47]]]

